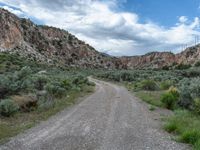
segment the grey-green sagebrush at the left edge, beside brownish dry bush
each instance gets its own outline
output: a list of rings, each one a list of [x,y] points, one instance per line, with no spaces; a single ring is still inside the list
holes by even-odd
[[[5,99],[0,102],[0,114],[5,117],[10,117],[14,115],[19,110],[18,105],[16,105],[12,100]]]

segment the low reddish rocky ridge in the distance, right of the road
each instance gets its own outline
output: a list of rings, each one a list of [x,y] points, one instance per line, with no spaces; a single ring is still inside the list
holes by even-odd
[[[121,57],[120,60],[129,69],[195,65],[200,62],[200,44],[189,47],[178,54],[171,52],[151,52],[142,56]]]

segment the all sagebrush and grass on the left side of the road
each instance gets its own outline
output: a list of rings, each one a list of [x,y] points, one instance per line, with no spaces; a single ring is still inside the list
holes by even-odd
[[[0,143],[91,93],[89,71],[0,54]]]

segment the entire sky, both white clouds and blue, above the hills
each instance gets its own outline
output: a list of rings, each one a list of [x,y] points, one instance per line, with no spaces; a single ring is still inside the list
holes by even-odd
[[[200,36],[200,0],[0,0],[0,7],[115,56],[178,53]]]

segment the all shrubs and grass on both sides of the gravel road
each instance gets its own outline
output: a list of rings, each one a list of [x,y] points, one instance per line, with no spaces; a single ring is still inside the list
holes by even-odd
[[[199,63],[198,63],[199,64]],[[0,143],[47,119],[78,97],[89,94],[94,83],[87,76],[124,84],[150,104],[149,110],[167,108],[164,129],[177,140],[200,149],[200,67],[174,70],[80,70],[48,66],[0,54]],[[181,69],[180,69],[181,68]],[[183,69],[184,68],[184,69]]]

